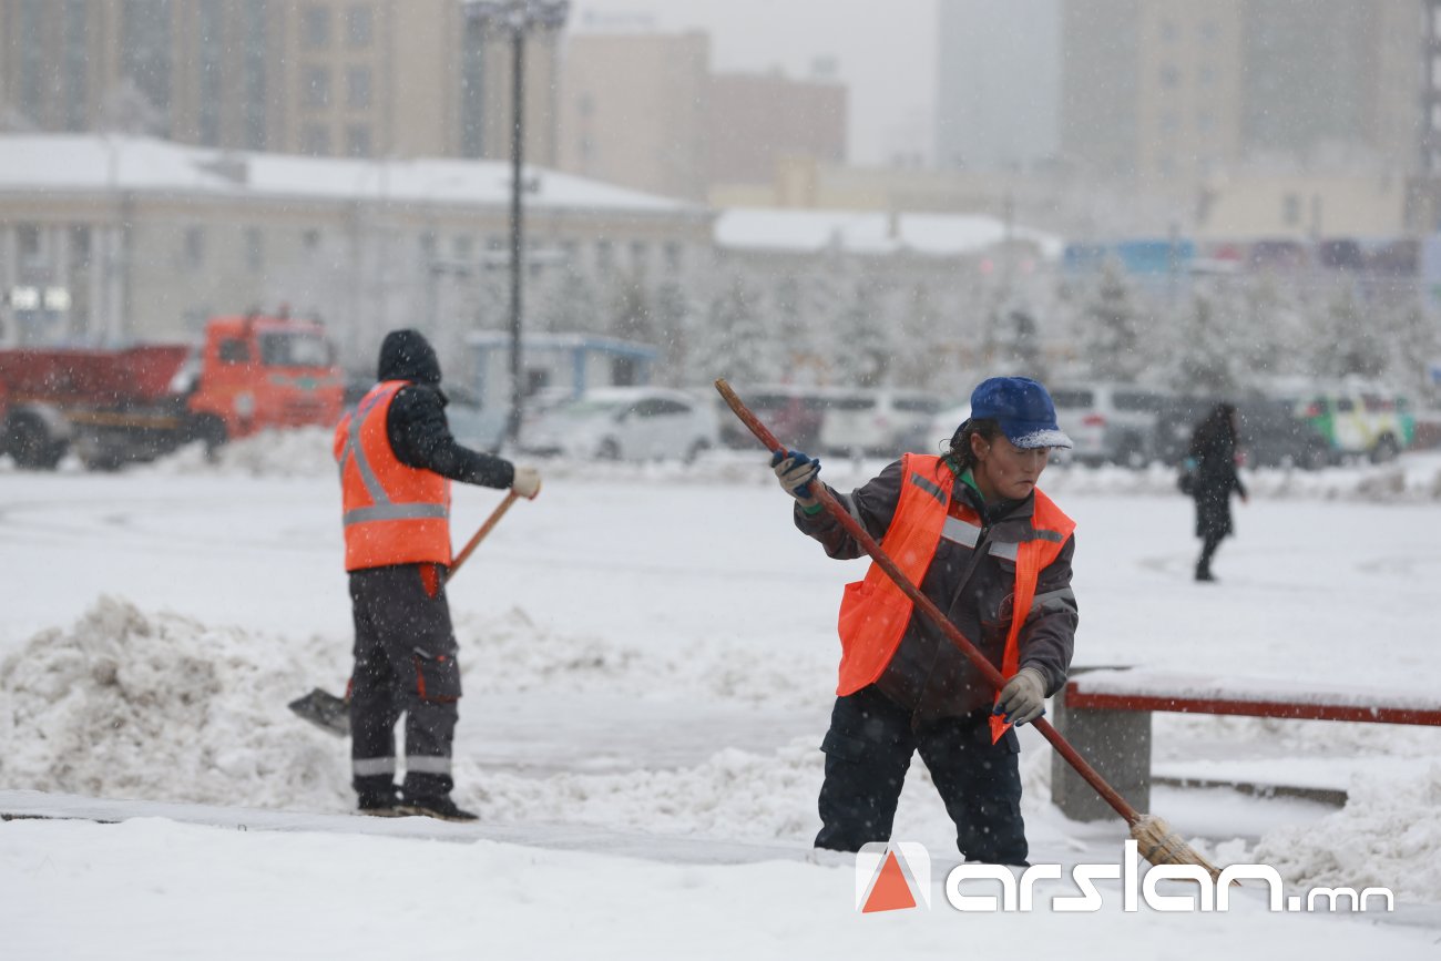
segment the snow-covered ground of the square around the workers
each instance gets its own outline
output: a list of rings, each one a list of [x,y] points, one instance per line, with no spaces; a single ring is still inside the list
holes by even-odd
[[[320,432],[117,475],[0,460],[0,807],[128,818],[0,823],[3,955],[1437,955],[1441,730],[1391,725],[1157,716],[1159,772],[1350,800],[1150,808],[1293,890],[1392,888],[1392,915],[1274,915],[1251,889],[1225,915],[1125,913],[1112,888],[1089,915],[963,916],[919,764],[896,837],[935,859],[934,906],[856,913],[852,860],[808,843],[836,602],[865,565],[791,529],[762,461],[543,467],[451,585],[471,827],[349,815],[346,743],[285,709],[349,670]],[[1221,584],[1196,585],[1169,471],[1048,473],[1079,522],[1078,664],[1434,696],[1441,457],[1249,480]],[[457,540],[497,500],[457,488]],[[1124,824],[1063,818],[1049,748],[1023,745],[1032,860],[1115,863]]]

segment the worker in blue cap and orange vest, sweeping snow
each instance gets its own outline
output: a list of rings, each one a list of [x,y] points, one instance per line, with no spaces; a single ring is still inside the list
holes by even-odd
[[[1076,630],[1075,523],[1036,481],[1071,447],[1046,389],[991,377],[940,457],[905,454],[836,494],[908,579],[1007,679],[1000,692],[875,563],[846,585],[840,683],[821,742],[826,779],[816,847],[855,852],[891,839],[901,785],[919,751],[967,860],[1026,864],[1014,725],[1039,718],[1066,679]],[[831,558],[862,555],[810,490],[820,464],[772,461],[794,519]],[[834,493],[834,491],[833,491]]]

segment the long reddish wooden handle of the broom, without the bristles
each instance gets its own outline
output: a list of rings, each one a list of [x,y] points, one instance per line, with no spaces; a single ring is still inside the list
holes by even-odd
[[[739,396],[736,396],[735,390],[731,389],[729,383],[726,383],[723,379],[716,380],[716,390],[720,392],[720,396],[725,398],[725,402],[731,408],[731,411],[733,411],[735,415],[741,418],[741,422],[751,429],[751,434],[754,434],[755,438],[767,447],[767,450],[769,450],[772,454],[781,454],[782,457],[785,455],[787,452],[785,445],[777,441],[775,435],[771,434],[769,428],[767,428],[761,422],[761,419],[755,416],[755,414],[751,412],[748,406],[745,406],[745,402],[741,401]],[[889,576],[895,582],[895,585],[901,588],[901,592],[905,594],[908,598],[911,598],[916,609],[921,611],[921,614],[924,614],[925,617],[928,617],[938,628],[941,628],[941,633],[945,634],[945,637],[953,644],[955,644],[955,647],[958,647],[963,654],[965,654],[965,657],[971,661],[971,664],[976,666],[976,670],[981,673],[986,681],[996,690],[1000,690],[1006,684],[1006,679],[1001,677],[1001,673],[999,670],[996,670],[996,666],[991,664],[989,660],[986,660],[986,656],[981,654],[980,650],[977,650],[976,645],[971,644],[964,634],[961,634],[960,628],[951,624],[950,618],[947,618],[945,614],[941,612],[941,608],[935,607],[935,602],[931,601],[931,598],[921,594],[921,589],[914,584],[911,584],[911,579],[901,572],[901,568],[898,568],[895,562],[891,559],[891,556],[880,547],[880,545],[876,543],[876,539],[872,537],[866,532],[866,529],[862,527],[860,523],[850,516],[849,510],[840,506],[840,501],[836,500],[836,496],[831,494],[830,488],[826,487],[823,483],[820,483],[818,478],[811,484],[811,496],[814,496],[816,500],[818,500],[820,504],[830,513],[830,516],[834,517],[840,523],[840,526],[846,529],[846,533],[849,533],[852,537],[856,539],[856,543],[860,545],[860,549],[865,550],[867,555],[870,555],[870,559],[875,560],[876,565],[886,572],[886,576]],[[1102,778],[1099,772],[1095,768],[1092,768],[1087,762],[1087,759],[1076,752],[1075,748],[1071,746],[1071,742],[1068,742],[1061,735],[1061,732],[1050,725],[1049,720],[1046,720],[1045,718],[1038,718],[1030,723],[1032,726],[1035,726],[1036,730],[1040,732],[1040,735],[1046,741],[1050,742],[1050,745],[1061,754],[1061,756],[1066,759],[1066,764],[1075,768],[1076,774],[1085,778],[1085,782],[1089,784],[1092,788],[1095,788],[1097,794],[1099,794],[1107,804],[1115,808],[1117,814],[1124,817],[1130,824],[1134,824],[1137,820],[1140,820],[1141,815],[1136,811],[1136,808],[1127,804],[1125,798],[1123,798],[1115,788],[1112,788],[1110,784],[1105,782],[1105,778]]]

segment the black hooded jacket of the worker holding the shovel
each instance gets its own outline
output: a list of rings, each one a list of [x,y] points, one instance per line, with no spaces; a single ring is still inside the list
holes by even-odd
[[[386,437],[395,457],[406,467],[481,487],[510,487],[514,465],[500,457],[473,451],[451,437],[441,390],[441,365],[435,349],[416,330],[395,330],[380,344],[380,380],[409,380],[391,402]]]

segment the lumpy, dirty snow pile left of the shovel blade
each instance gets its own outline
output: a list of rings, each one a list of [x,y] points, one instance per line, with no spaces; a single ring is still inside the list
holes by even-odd
[[[291,641],[101,598],[0,661],[0,787],[333,807],[343,752],[297,736],[285,709],[323,664]]]

